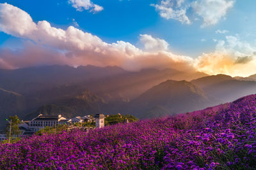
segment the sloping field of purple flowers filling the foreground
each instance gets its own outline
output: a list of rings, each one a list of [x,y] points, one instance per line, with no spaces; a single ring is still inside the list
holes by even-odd
[[[253,169],[256,95],[176,117],[0,146],[0,169]]]

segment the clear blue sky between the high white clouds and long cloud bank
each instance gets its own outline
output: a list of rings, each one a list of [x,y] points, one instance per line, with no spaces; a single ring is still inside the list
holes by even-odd
[[[223,35],[215,33],[218,29],[230,31],[230,34],[241,34],[246,41],[253,43],[254,39],[248,33],[256,34],[256,1],[237,0],[234,8],[230,9],[226,19],[220,20],[216,25],[201,28],[202,22],[196,21],[191,25],[181,24],[177,20],[166,20],[160,17],[154,6],[159,1],[147,0],[95,0],[93,3],[104,6],[104,10],[93,14],[90,11],[76,11],[67,1],[4,1],[27,11],[35,22],[47,20],[55,27],[67,29],[75,25],[73,18],[79,24],[78,28],[99,36],[106,42],[118,40],[138,43],[140,34],[151,34],[165,39],[170,48],[184,55],[196,57],[204,52],[214,50],[212,39],[222,38]],[[0,34],[3,44],[11,36]],[[255,38],[255,37],[254,37]],[[205,39],[206,41],[201,41]]]

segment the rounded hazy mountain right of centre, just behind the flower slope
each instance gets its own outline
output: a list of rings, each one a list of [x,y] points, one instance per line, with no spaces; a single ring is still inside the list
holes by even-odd
[[[147,90],[129,106],[134,115],[145,118],[198,110],[211,106],[211,101],[193,83],[168,80]]]

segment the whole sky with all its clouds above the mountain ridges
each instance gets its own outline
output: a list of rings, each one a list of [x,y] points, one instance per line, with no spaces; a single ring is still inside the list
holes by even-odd
[[[256,73],[255,0],[0,1],[0,68]]]

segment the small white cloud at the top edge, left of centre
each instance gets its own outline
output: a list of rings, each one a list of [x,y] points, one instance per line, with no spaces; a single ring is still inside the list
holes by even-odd
[[[90,10],[93,13],[97,13],[104,10],[102,6],[94,4],[90,0],[68,0],[68,3],[72,4],[72,6],[76,8],[77,11]]]

